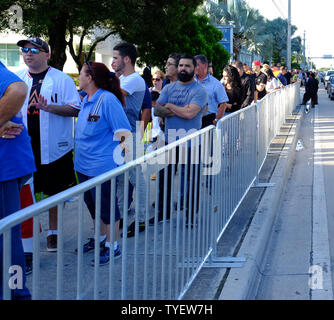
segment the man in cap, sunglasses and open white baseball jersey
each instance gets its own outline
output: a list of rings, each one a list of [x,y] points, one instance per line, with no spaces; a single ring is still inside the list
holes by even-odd
[[[75,184],[72,117],[79,113],[80,97],[72,78],[48,65],[45,41],[29,38],[17,45],[28,67],[17,75],[28,85],[22,114],[37,168],[34,191],[52,196]],[[49,211],[47,250],[57,251],[57,207]]]

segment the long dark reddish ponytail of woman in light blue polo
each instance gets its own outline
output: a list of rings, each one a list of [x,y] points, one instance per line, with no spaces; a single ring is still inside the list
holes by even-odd
[[[110,72],[110,70],[104,63],[100,62],[88,62],[88,63],[90,63],[92,72],[90,72],[87,63],[85,64],[86,65],[85,71],[87,74],[90,74],[92,76],[95,85],[98,88],[113,93],[117,97],[117,99],[121,102],[121,104],[125,106],[124,96],[121,91],[120,82],[116,74]]]

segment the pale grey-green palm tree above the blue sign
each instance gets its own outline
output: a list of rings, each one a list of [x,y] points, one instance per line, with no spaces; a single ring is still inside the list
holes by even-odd
[[[270,48],[270,37],[265,34],[265,18],[246,2],[234,1],[227,5],[224,2],[215,4],[210,1],[201,10],[209,17],[212,24],[234,25],[233,58],[235,60],[238,59],[242,47],[254,53],[260,53],[263,47],[267,48],[266,52]]]

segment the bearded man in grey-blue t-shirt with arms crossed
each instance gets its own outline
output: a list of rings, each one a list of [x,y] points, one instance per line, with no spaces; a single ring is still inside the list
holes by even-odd
[[[182,55],[178,64],[178,81],[169,84],[164,87],[160,93],[158,99],[158,106],[155,107],[155,115],[159,117],[165,117],[165,139],[166,143],[172,143],[176,140],[196,132],[201,129],[202,116],[206,105],[208,103],[208,95],[205,88],[197,83],[194,79],[196,60],[193,56]],[[188,159],[190,162],[190,144],[188,144]],[[178,163],[178,149],[176,153],[176,162]],[[177,165],[176,165],[177,166]],[[188,179],[190,177],[190,169],[193,166],[193,174],[195,176],[196,170],[199,169],[199,165],[192,164],[187,165]],[[182,165],[180,172],[181,184],[184,182],[185,165]],[[170,199],[171,192],[174,188],[171,187],[172,180],[172,165],[169,164],[165,169],[168,170],[168,183],[167,183],[167,219],[170,218]],[[198,176],[199,181],[199,176]],[[164,203],[164,172],[159,172],[160,194],[159,194],[159,214],[158,221],[163,220],[163,203]],[[186,188],[181,187],[181,193],[188,189],[188,183]],[[192,208],[194,207],[195,198],[195,186],[192,188],[192,195],[189,194],[188,203],[186,204],[186,211],[188,217],[188,208],[190,205],[190,199],[192,199]],[[199,192],[199,185],[197,186],[197,193]],[[182,194],[181,194],[182,197]],[[198,195],[197,195],[198,200]],[[181,201],[182,203],[182,201]],[[198,204],[197,206],[198,207]],[[154,218],[150,220],[150,224],[154,224]]]

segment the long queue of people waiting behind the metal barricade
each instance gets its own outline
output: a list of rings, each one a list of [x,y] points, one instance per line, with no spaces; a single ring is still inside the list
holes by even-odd
[[[250,106],[267,93],[300,81],[297,73],[289,72],[286,67],[270,67],[260,61],[254,61],[252,68],[235,61],[222,70],[219,81],[213,76],[212,62],[205,55],[178,53],[165,57],[164,72],[152,71],[148,66],[141,76],[135,71],[136,47],[123,42],[113,48],[110,67],[114,72],[103,63],[85,61],[78,92],[68,75],[48,65],[50,50],[45,41],[28,38],[17,45],[21,47],[27,69],[14,75],[0,63],[0,197],[6,199],[0,201],[0,219],[34,203],[37,192],[52,196],[73,186],[76,176],[81,183],[142,156],[141,141],[147,128],[150,128],[151,149],[155,149],[216,125],[223,117]],[[75,127],[73,117],[77,118]],[[188,147],[189,159],[190,156]],[[166,170],[170,190],[171,165]],[[181,176],[186,170],[199,172],[199,165],[182,165]],[[159,175],[160,190],[158,221],[162,221],[165,196],[166,218],[170,218],[171,193],[164,192],[163,170],[156,175]],[[135,169],[130,170],[128,198],[130,204],[135,190],[139,199],[136,213],[139,232],[147,227],[144,210],[147,183],[142,171],[136,175]],[[182,208],[190,219],[187,225],[191,225],[198,208],[199,196],[195,192],[200,188],[190,188],[189,181],[183,183],[181,203],[184,193],[193,190]],[[127,232],[127,237],[135,234],[135,221],[123,226],[124,190],[127,188],[121,175],[117,179],[112,217],[114,239],[110,239],[110,181],[101,186],[101,265],[107,264],[111,255],[121,256],[120,228]],[[95,189],[85,192],[84,201],[95,224]],[[155,223],[152,217],[150,224]],[[12,263],[22,266],[24,274],[32,271],[32,237],[31,219],[13,228]],[[0,251],[1,246],[2,241]],[[90,238],[76,251],[87,253],[94,248],[95,240]],[[49,212],[47,250],[57,251],[57,207]],[[2,285],[1,280],[0,298]],[[18,299],[29,297],[25,286],[12,294]]]

